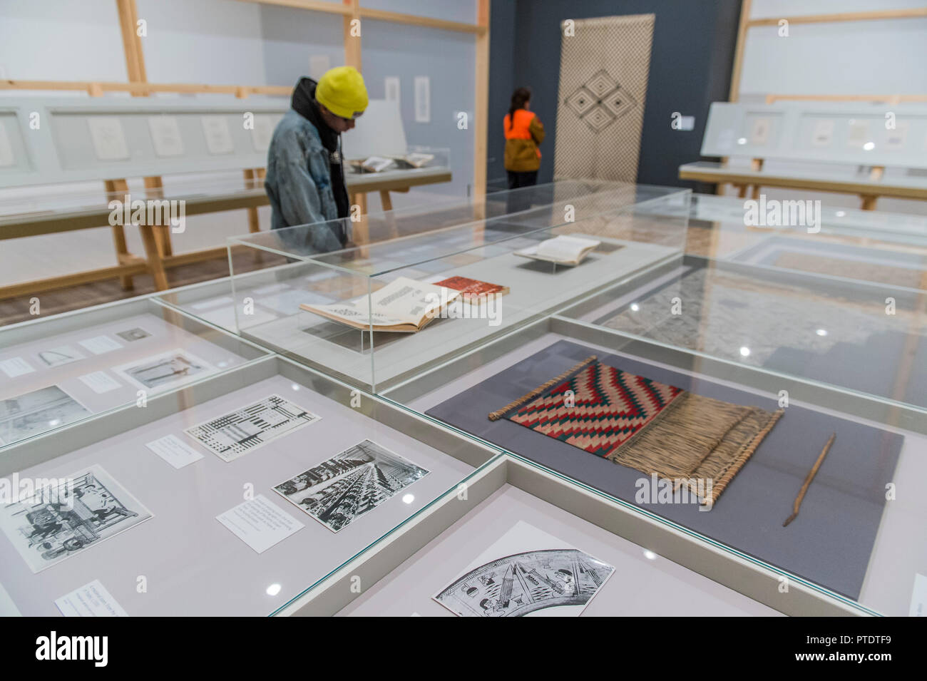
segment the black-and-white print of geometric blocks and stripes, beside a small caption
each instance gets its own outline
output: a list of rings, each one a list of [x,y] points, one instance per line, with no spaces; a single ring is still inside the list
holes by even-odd
[[[184,433],[220,459],[231,461],[321,419],[284,397],[272,395],[187,428]]]

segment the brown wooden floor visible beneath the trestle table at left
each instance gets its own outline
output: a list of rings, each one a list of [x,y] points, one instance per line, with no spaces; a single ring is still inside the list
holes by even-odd
[[[276,258],[267,253],[261,254],[260,261],[255,258],[254,253],[240,253],[235,255],[235,272],[261,270],[282,265],[285,262],[286,259]],[[168,271],[168,284],[171,288],[175,288],[206,282],[210,279],[220,279],[228,274],[229,261],[222,257],[171,268]],[[89,308],[93,305],[155,292],[155,284],[150,275],[136,275],[133,277],[133,283],[134,287],[130,291],[123,291],[118,279],[46,291],[38,296],[41,316],[48,317],[71,309]],[[35,319],[35,316],[29,313],[31,297],[21,296],[0,300],[0,326]]]

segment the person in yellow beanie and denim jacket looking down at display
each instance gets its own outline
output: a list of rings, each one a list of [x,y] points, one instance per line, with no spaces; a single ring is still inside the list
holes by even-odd
[[[325,71],[318,82],[301,78],[290,107],[267,151],[264,190],[271,203],[271,229],[348,218],[341,133],[351,130],[367,108],[362,75],[340,66]],[[325,253],[349,245],[350,221],[281,236],[300,253]]]

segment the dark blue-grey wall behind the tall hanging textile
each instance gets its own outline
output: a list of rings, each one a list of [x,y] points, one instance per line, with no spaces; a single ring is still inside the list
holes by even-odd
[[[654,44],[638,183],[694,186],[679,180],[679,165],[698,160],[708,106],[728,98],[740,5],[740,0],[493,0],[489,179],[504,173],[502,117],[512,91],[521,85],[533,91],[531,108],[547,130],[538,181],[553,178],[560,22],[653,13]],[[695,129],[672,130],[670,114],[674,111],[695,116]]]

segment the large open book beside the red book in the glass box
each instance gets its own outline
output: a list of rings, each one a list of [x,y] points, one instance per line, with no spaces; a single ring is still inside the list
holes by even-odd
[[[370,296],[333,305],[303,303],[300,309],[355,329],[414,334],[461,295],[451,288],[400,277]]]

